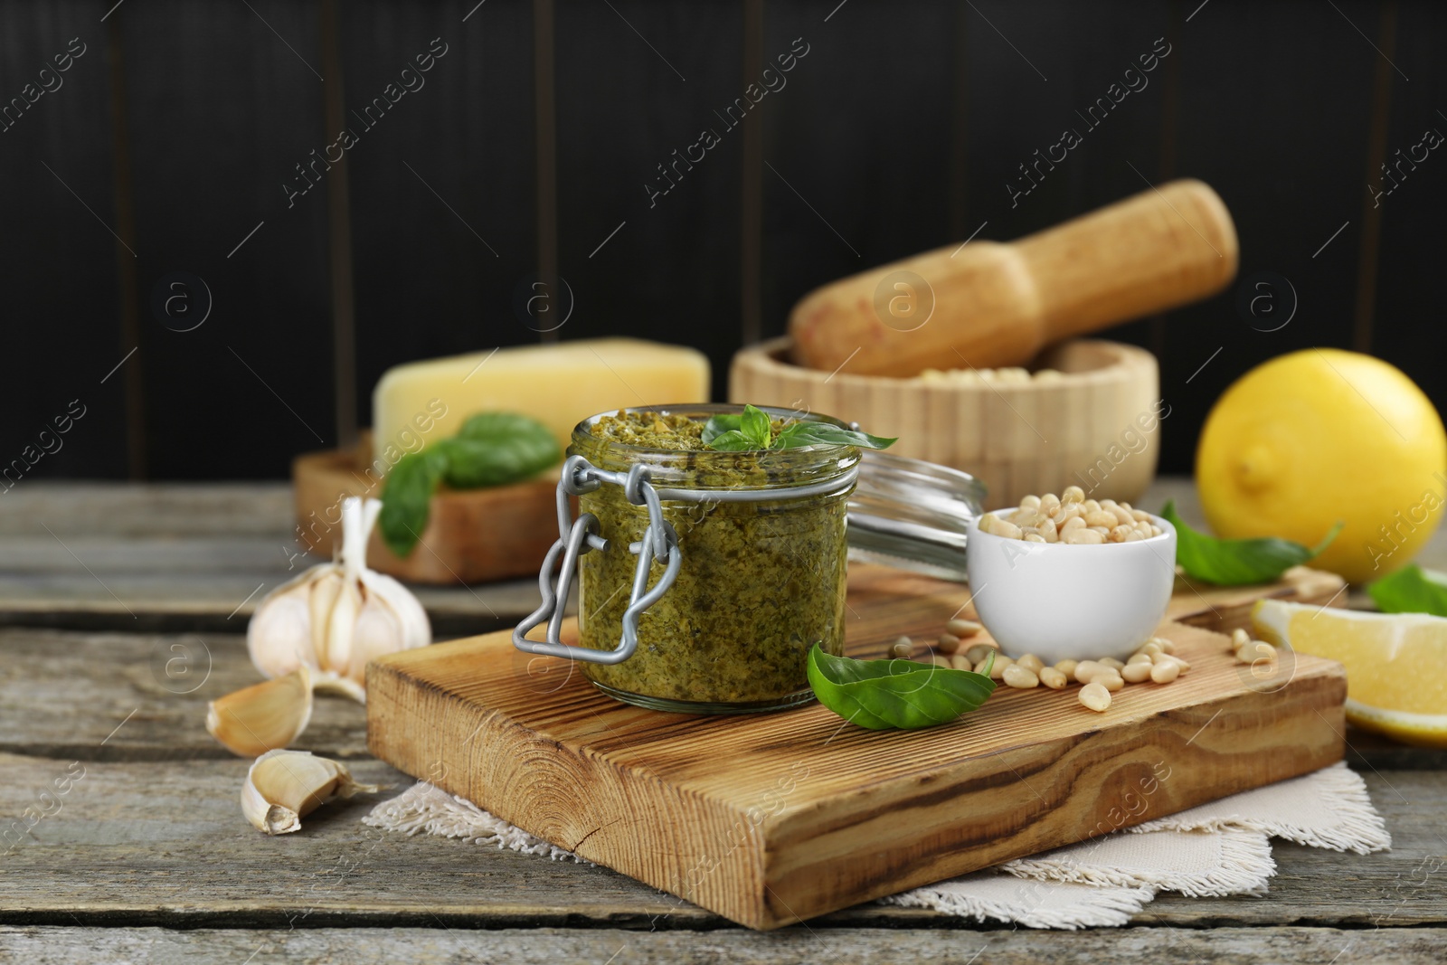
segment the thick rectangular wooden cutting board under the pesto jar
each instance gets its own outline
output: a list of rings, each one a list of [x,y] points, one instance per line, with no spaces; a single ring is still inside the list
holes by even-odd
[[[1191,671],[1106,713],[1077,687],[1000,687],[925,731],[812,705],[737,718],[631,707],[509,632],[368,667],[376,757],[589,861],[755,929],[929,884],[1304,774],[1343,755],[1346,674],[1289,655],[1257,680],[1214,626],[1262,596],[1327,603],[1341,580],[1178,587],[1160,635]],[[932,641],[968,590],[852,566],[846,648]],[[564,634],[567,635],[567,634]]]

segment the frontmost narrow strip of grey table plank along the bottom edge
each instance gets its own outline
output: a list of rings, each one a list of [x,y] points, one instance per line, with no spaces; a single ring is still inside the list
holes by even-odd
[[[1440,962],[1447,929],[1346,930],[1330,927],[1163,929],[1098,932],[1001,930],[975,935],[903,929],[805,927],[755,932],[629,932],[621,929],[94,929],[0,927],[0,953],[33,965],[90,962],[355,962],[463,965],[464,962],[618,962],[634,965],[813,965],[823,958],[852,965],[939,962],[969,965],[1097,965],[1098,962],[1185,965],[1201,961],[1327,962],[1349,951],[1351,961],[1425,965]]]

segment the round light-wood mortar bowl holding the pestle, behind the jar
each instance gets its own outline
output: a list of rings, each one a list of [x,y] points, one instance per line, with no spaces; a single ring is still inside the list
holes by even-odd
[[[794,365],[789,353],[787,337],[742,349],[729,370],[729,399],[807,408],[897,435],[891,453],[984,480],[988,509],[1071,485],[1092,499],[1136,501],[1156,472],[1160,373],[1155,356],[1134,346],[1051,346],[1029,369],[1062,378],[1020,383],[851,375],[848,365],[831,375]],[[941,359],[942,369],[956,366]]]

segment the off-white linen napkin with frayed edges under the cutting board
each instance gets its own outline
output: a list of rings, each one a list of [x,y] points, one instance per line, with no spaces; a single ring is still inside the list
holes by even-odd
[[[425,781],[382,802],[362,822],[583,861]],[[1392,845],[1362,777],[1334,764],[880,901],[1036,929],[1119,926],[1160,891],[1263,894],[1276,872],[1270,838],[1357,854]]]

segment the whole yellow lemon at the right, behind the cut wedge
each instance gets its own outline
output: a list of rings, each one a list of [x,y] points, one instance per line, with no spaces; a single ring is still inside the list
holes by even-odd
[[[1315,545],[1310,566],[1353,583],[1405,566],[1447,501],[1447,433],[1399,369],[1305,349],[1265,362],[1217,399],[1195,451],[1201,508],[1223,538]]]

